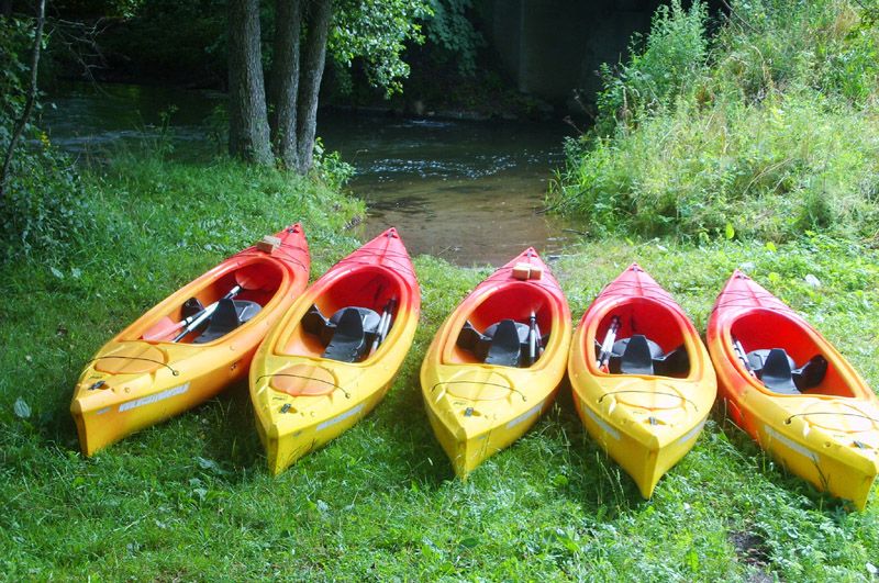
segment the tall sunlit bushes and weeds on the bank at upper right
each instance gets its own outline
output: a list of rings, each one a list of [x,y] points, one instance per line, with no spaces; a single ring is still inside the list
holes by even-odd
[[[597,131],[569,144],[552,203],[599,233],[876,237],[876,21],[847,0],[732,7],[710,66],[704,9],[659,12],[645,52],[607,79]]]

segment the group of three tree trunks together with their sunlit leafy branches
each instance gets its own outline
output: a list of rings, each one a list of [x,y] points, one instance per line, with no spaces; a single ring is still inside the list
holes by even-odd
[[[276,0],[267,103],[259,1],[230,0],[230,154],[308,172],[327,47],[336,61],[360,58],[371,82],[399,90],[409,74],[404,43],[421,40],[418,19],[427,14],[426,0]]]

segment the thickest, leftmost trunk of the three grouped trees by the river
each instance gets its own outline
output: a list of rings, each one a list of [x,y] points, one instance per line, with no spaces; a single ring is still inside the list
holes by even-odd
[[[230,0],[229,153],[270,165],[259,34],[259,0]]]

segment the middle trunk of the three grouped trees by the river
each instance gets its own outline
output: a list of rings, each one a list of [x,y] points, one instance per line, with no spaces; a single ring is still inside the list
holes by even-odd
[[[302,2],[275,3],[275,63],[271,66],[271,145],[287,168],[297,168],[297,97]]]

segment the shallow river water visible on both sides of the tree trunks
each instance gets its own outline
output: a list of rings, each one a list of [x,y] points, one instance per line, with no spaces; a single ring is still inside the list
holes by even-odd
[[[157,139],[164,117],[175,155],[221,152],[224,96],[129,85],[64,86],[43,124],[75,156]],[[367,203],[361,227],[396,226],[412,255],[457,265],[501,265],[527,246],[545,254],[566,243],[561,221],[541,214],[547,180],[563,162],[561,122],[409,120],[322,112],[318,133],[354,165],[353,193]]]

